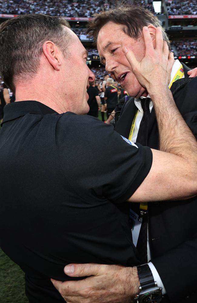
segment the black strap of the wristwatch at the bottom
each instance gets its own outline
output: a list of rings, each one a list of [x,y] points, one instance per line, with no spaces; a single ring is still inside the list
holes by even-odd
[[[140,289],[144,290],[146,288],[155,287],[157,283],[155,283],[152,271],[148,264],[137,266]]]

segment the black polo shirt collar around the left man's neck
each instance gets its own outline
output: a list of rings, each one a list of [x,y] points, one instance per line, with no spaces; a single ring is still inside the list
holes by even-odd
[[[54,114],[57,112],[38,101],[17,101],[5,105],[2,124],[6,121],[10,121],[30,113],[37,115],[46,115]]]

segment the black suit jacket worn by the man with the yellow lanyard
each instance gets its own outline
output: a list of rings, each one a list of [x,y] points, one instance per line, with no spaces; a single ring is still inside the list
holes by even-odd
[[[189,69],[184,65],[185,77]],[[197,136],[197,77],[173,83],[171,91],[186,123]],[[126,138],[135,116],[130,98],[115,127]],[[155,111],[152,109],[148,146],[159,148]],[[165,286],[168,298],[162,302],[197,302],[197,198],[185,201],[149,203],[149,244],[152,263]],[[186,298],[189,296],[189,298]]]

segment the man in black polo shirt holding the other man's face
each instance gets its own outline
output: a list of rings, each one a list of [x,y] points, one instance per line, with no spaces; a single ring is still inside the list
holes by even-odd
[[[186,139],[177,151],[172,136],[169,146],[179,156],[135,145],[84,115],[88,83],[95,77],[85,48],[68,27],[63,18],[46,15],[22,15],[0,25],[0,71],[16,96],[5,106],[0,132],[0,246],[25,272],[30,303],[63,301],[50,278],[72,279],[63,272],[71,262],[120,264],[124,275],[124,266],[130,266],[135,295],[139,278],[131,266],[139,260],[124,201],[197,194],[195,138],[179,117],[167,82],[161,86],[165,98],[149,81],[144,85],[156,109],[169,102],[169,118],[179,117],[175,137]],[[162,68],[158,64],[154,75]],[[161,144],[167,126],[163,121]],[[185,145],[190,145],[187,155]]]

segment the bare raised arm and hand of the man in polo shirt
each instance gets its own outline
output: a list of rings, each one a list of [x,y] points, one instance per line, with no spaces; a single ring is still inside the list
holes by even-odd
[[[159,31],[158,28],[157,31]],[[147,57],[145,56],[141,62],[137,62],[131,51],[126,52],[125,55],[138,81],[147,88],[154,103],[159,129],[160,151],[153,150],[152,168],[129,201],[146,202],[190,198],[197,194],[195,173],[197,169],[197,142],[175,105],[172,93],[167,87],[168,81],[165,85],[163,83],[164,78],[168,80],[166,69],[162,68],[160,71],[166,75],[162,78],[162,83],[158,83],[159,81],[156,81],[155,78],[156,68],[159,67],[155,62],[159,60],[159,48],[167,54],[167,45],[163,43],[162,37],[157,35],[154,49],[149,41],[152,39],[148,29],[143,29],[143,35],[145,36]],[[148,41],[149,43],[147,43]],[[148,45],[149,48],[147,48]],[[148,65],[145,63],[146,58],[149,58]],[[154,61],[153,58],[156,60]],[[143,65],[144,63],[145,65]],[[162,64],[165,66],[166,63]],[[146,66],[146,69],[143,69],[143,66]],[[168,68],[167,65],[167,70]],[[155,70],[155,74],[151,73],[151,69]],[[140,75],[142,70],[143,73]],[[157,83],[157,85],[152,85],[150,81]],[[166,188],[168,188],[167,191]],[[145,192],[146,195],[144,195]]]

